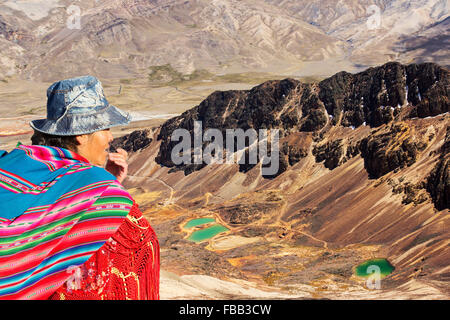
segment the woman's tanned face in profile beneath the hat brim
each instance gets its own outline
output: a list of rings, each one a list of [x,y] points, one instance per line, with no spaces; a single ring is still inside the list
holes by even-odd
[[[96,166],[104,166],[109,153],[109,144],[113,136],[109,129],[78,136],[78,154]]]

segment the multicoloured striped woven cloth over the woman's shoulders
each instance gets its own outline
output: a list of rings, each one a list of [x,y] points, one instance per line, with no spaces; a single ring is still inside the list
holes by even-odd
[[[0,299],[46,299],[119,228],[133,200],[63,148],[0,151]]]

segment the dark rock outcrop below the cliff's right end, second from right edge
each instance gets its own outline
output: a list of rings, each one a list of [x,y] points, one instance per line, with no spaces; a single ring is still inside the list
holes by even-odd
[[[410,139],[408,132],[409,127],[399,123],[387,133],[361,140],[361,156],[369,178],[379,178],[416,161],[417,145]]]

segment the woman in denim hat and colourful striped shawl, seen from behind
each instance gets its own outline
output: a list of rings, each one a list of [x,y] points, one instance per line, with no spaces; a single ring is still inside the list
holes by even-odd
[[[159,244],[123,188],[130,122],[92,76],[47,91],[32,145],[0,152],[0,299],[159,299]]]

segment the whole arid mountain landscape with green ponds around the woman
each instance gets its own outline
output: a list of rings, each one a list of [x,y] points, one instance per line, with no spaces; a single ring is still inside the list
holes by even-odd
[[[58,24],[69,1],[22,2],[0,2],[0,149],[31,143],[54,81],[97,76],[133,116],[113,148],[161,299],[450,298],[445,1],[82,1],[79,30]],[[370,5],[383,32],[360,31]],[[278,172],[173,163],[194,121],[279,130]],[[368,261],[391,267],[377,288]]]

